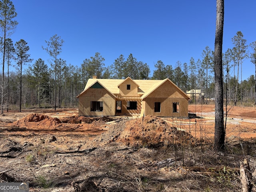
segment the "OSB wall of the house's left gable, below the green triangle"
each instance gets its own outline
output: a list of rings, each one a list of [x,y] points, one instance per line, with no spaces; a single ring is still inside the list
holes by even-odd
[[[90,111],[91,101],[103,101],[103,111]],[[115,97],[104,88],[89,88],[79,96],[79,116],[114,116]]]

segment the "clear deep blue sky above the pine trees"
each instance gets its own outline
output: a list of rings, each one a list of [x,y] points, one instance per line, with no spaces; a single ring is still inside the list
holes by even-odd
[[[18,26],[10,37],[24,39],[33,64],[49,55],[42,46],[57,34],[64,40],[59,58],[80,66],[99,52],[105,66],[131,53],[147,63],[165,65],[202,60],[206,46],[214,50],[216,0],[12,0]],[[256,1],[225,0],[223,52],[241,31],[249,45],[256,41]],[[251,49],[249,49],[251,51]],[[243,62],[243,79],[255,73],[250,59]]]

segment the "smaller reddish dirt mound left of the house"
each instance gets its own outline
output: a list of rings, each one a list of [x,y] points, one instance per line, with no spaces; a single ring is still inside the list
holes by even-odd
[[[35,122],[37,123],[35,124]],[[16,126],[16,127],[26,127],[26,128],[31,128],[31,126],[32,127],[36,126],[37,128],[40,128],[40,127],[49,128],[50,126],[55,126],[60,123],[61,121],[58,118],[52,118],[47,115],[32,113],[8,125]]]

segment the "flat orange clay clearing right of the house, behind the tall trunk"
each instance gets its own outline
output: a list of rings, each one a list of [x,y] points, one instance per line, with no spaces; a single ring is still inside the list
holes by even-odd
[[[176,120],[176,126],[191,132],[196,138],[213,138],[215,126],[214,105],[189,105],[189,112],[202,118],[189,120]],[[228,106],[224,107],[224,123],[226,122],[226,137],[256,138],[256,108],[254,106]],[[182,121],[182,123],[179,123]],[[183,122],[186,123],[183,123]]]

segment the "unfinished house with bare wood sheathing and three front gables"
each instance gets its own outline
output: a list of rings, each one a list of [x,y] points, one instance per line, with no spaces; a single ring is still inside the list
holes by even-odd
[[[190,97],[164,80],[89,79],[79,98],[79,116],[152,115],[188,118]]]

